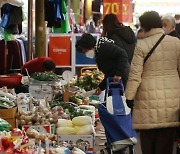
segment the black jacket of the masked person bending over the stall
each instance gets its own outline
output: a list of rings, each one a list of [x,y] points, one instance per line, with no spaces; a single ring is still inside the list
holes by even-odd
[[[103,43],[98,48],[96,63],[104,74],[105,78],[100,83],[101,90],[106,89],[107,77],[121,76],[124,86],[126,86],[129,74],[128,56],[124,49],[112,43]]]

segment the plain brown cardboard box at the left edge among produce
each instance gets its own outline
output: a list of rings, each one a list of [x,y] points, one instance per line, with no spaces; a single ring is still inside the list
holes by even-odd
[[[9,124],[11,125],[11,129],[16,128],[16,112],[17,107],[0,110],[0,118],[9,122]]]

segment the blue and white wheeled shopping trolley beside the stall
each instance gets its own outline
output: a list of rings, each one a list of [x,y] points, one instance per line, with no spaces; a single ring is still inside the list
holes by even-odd
[[[137,143],[137,135],[132,129],[131,110],[125,102],[124,87],[122,81],[113,82],[113,78],[107,79],[105,105],[98,107],[99,117],[105,129],[108,154],[134,154],[134,144]]]

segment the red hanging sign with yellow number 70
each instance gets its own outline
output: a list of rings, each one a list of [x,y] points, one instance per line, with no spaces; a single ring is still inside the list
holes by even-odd
[[[121,22],[132,22],[131,0],[104,0],[103,15],[116,14]]]

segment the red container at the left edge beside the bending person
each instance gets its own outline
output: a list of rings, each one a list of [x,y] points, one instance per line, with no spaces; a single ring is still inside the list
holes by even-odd
[[[8,88],[14,88],[21,84],[21,74],[8,74],[0,75],[0,87],[7,86]]]

